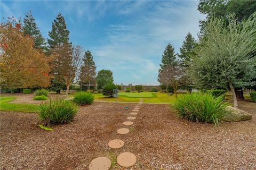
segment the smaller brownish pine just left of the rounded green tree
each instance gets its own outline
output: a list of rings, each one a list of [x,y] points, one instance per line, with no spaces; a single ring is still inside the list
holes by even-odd
[[[97,73],[92,53],[89,50],[84,53],[83,62],[80,69],[79,80],[83,84],[93,82]]]

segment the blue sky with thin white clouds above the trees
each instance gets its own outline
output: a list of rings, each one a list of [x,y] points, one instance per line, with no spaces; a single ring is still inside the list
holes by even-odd
[[[159,84],[163,50],[179,52],[188,32],[196,38],[198,1],[1,1],[1,19],[29,10],[44,38],[57,14],[65,17],[70,41],[93,54],[97,70],[113,71],[115,83]]]

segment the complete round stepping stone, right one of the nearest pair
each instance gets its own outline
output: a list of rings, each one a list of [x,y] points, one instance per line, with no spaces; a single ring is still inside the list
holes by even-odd
[[[133,166],[137,162],[136,156],[130,152],[123,152],[122,154],[119,154],[116,160],[117,164],[123,167]]]

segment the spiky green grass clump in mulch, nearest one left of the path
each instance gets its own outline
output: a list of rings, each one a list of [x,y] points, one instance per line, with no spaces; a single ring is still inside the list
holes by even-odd
[[[78,107],[71,100],[55,99],[41,104],[37,113],[45,124],[63,124],[73,120]]]

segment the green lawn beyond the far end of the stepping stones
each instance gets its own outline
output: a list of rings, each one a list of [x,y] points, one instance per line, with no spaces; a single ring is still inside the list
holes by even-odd
[[[117,98],[104,97],[102,94],[94,95],[95,100],[100,101],[121,101],[121,102],[139,102],[140,98],[144,103],[172,103],[175,96],[170,96],[160,92],[119,92]]]

